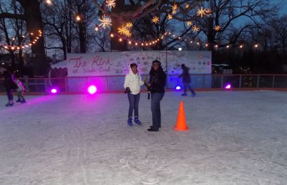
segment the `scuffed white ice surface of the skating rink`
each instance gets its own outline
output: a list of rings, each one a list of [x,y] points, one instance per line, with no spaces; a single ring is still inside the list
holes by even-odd
[[[287,93],[166,93],[162,129],[124,94],[0,97],[0,184],[287,184]],[[190,130],[175,132],[179,101]]]

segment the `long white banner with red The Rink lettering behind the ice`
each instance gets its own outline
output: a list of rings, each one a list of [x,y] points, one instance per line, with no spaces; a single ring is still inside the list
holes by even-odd
[[[68,77],[125,75],[131,63],[149,75],[153,60],[159,60],[164,71],[167,64],[168,74],[181,73],[181,64],[190,67],[191,74],[211,74],[210,51],[125,51],[68,54]]]

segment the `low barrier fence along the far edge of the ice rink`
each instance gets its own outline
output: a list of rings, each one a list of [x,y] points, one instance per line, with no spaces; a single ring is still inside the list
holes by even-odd
[[[287,88],[287,75],[191,75],[191,78],[193,88],[224,88],[226,84],[231,84],[232,88]],[[21,81],[27,91],[33,93],[47,93],[51,88],[58,88],[60,92],[85,93],[92,84],[97,86],[98,92],[105,93],[123,90],[125,76],[23,78]],[[166,88],[176,86],[182,86],[182,79],[178,75],[168,75]],[[4,91],[3,86],[0,91]]]

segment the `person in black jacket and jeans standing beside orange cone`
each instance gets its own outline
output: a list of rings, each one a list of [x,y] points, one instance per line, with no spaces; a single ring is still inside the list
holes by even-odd
[[[149,82],[145,84],[151,91],[151,114],[153,125],[148,129],[150,132],[158,132],[161,127],[160,101],[164,97],[164,87],[166,86],[166,73],[160,66],[160,61],[153,60],[153,66],[149,71]]]

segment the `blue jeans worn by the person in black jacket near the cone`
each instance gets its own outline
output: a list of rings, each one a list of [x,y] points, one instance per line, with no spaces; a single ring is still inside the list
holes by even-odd
[[[151,115],[153,116],[153,130],[158,130],[161,124],[160,101],[164,93],[151,93]]]

